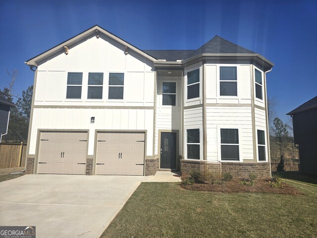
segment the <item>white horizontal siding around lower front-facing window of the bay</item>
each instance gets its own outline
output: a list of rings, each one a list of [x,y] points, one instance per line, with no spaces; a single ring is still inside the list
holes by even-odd
[[[240,161],[253,160],[251,107],[207,107],[207,160],[220,161],[220,128],[239,130]]]

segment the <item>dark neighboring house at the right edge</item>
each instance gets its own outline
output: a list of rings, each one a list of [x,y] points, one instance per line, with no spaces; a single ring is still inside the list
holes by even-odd
[[[289,112],[294,143],[299,145],[300,172],[317,175],[317,96]]]

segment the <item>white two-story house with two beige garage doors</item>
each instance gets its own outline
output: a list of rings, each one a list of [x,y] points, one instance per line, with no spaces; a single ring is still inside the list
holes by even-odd
[[[27,173],[270,176],[265,73],[215,36],[139,50],[94,26],[25,62],[35,70]]]

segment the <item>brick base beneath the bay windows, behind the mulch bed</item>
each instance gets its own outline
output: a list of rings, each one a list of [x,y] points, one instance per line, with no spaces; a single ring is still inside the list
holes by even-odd
[[[229,172],[233,178],[247,179],[249,174],[256,174],[258,178],[270,178],[270,164],[269,163],[232,163],[219,162],[210,163],[208,161],[189,161],[181,160],[181,173],[189,174],[191,171],[197,173],[209,172]]]

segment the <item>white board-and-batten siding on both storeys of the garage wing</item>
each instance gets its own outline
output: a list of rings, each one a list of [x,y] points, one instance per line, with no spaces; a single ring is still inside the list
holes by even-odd
[[[96,130],[146,130],[147,156],[154,156],[154,65],[130,49],[124,52],[123,45],[101,34],[71,47],[68,55],[59,53],[39,63],[30,155],[36,154],[38,129],[69,129],[89,132],[88,155],[94,155]],[[83,73],[81,99],[66,99],[68,72]],[[104,73],[102,99],[87,99],[89,72]],[[122,100],[108,100],[109,72],[124,73]]]

